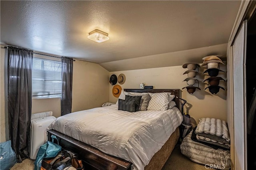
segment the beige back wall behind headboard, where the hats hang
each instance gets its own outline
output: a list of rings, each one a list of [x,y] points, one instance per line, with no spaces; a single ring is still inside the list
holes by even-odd
[[[222,70],[226,70],[224,65],[220,67]],[[200,72],[204,72],[205,67],[200,68]],[[123,85],[120,85],[122,89],[139,89],[140,83],[146,85],[153,85],[154,89],[182,89],[186,87],[187,75],[183,75],[186,69],[182,66],[173,67],[161,67],[152,69],[138,69],[130,71],[116,71],[110,72],[110,75],[115,74],[118,76],[120,73],[124,73],[126,81]],[[226,78],[225,73],[219,73],[218,76]],[[208,76],[196,76],[200,81],[204,81]],[[117,83],[119,84],[119,83]],[[226,83],[220,82],[220,86],[226,89]],[[220,89],[220,92],[216,95],[212,95],[208,89],[204,91],[207,85],[200,83],[200,90],[196,90],[193,94],[190,94],[186,89],[182,90],[182,98],[187,101],[184,107],[184,113],[189,113],[197,123],[198,119],[202,117],[213,117],[226,121],[226,91]],[[109,86],[110,102],[116,102],[118,98],[112,95],[112,85]]]

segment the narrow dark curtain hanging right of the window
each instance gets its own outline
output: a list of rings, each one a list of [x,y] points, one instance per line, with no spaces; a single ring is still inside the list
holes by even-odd
[[[62,57],[62,96],[61,115],[71,113],[72,109],[72,81],[73,81],[73,59]]]

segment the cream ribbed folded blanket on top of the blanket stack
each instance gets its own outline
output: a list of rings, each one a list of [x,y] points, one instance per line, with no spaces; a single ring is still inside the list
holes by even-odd
[[[198,136],[202,136],[201,140],[210,139],[211,142],[219,142],[221,144],[230,144],[230,136],[228,126],[225,121],[215,118],[201,118],[195,132]],[[208,140],[207,139],[207,140]],[[206,141],[207,141],[206,140]]]

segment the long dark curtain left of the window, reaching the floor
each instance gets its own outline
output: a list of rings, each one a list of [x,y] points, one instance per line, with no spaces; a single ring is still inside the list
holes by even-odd
[[[8,123],[17,162],[29,158],[33,51],[8,47]]]

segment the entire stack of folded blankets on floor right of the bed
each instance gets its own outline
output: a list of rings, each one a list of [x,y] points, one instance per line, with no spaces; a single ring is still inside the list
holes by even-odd
[[[217,169],[230,169],[230,136],[225,121],[199,119],[180,144],[182,154],[199,164]]]

